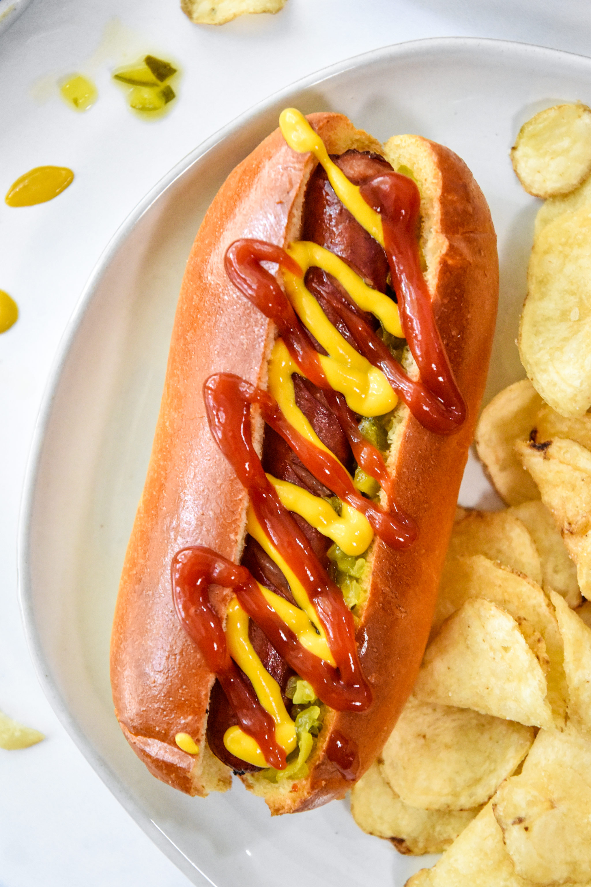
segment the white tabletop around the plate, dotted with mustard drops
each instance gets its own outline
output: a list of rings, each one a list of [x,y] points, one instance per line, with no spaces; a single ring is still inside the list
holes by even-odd
[[[9,3],[0,0],[0,15]],[[0,289],[20,309],[0,336],[0,709],[47,736],[28,750],[0,750],[0,887],[188,884],[58,723],[20,623],[16,538],[29,442],[60,336],[98,255],[176,161],[261,98],[340,59],[450,35],[591,55],[591,4],[288,0],[276,16],[197,27],[178,0],[33,0],[0,36],[0,192],[35,166],[76,176],[67,201],[0,203]],[[180,98],[162,121],[136,119],[109,82],[124,51],[181,63]],[[70,111],[55,87],[80,70],[100,93],[86,114]]]

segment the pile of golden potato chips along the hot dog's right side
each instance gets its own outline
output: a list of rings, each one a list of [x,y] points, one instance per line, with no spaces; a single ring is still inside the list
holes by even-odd
[[[587,159],[569,142],[583,137]],[[509,507],[458,508],[413,695],[351,796],[369,834],[403,853],[443,851],[407,887],[591,887],[591,179],[578,180],[591,170],[591,111],[537,115],[512,156],[549,200],[521,326],[532,381],[497,395],[477,429]],[[578,190],[552,196],[567,180]],[[579,300],[571,327],[567,294]]]

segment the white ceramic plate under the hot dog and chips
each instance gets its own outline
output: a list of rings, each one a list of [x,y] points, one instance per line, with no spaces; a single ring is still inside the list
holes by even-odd
[[[271,820],[239,782],[226,795],[185,797],[149,775],[113,717],[113,605],[199,221],[284,106],[343,111],[379,138],[417,132],[449,145],[483,188],[499,235],[490,397],[523,374],[514,340],[537,208],[513,175],[509,148],[535,111],[576,99],[591,100],[590,59],[517,43],[421,41],[346,61],[268,99],[182,161],[116,233],[82,294],[35,432],[20,529],[23,614],[58,717],[193,883],[398,887],[432,861],[400,857],[363,835],[346,802]],[[461,495],[465,505],[497,501],[474,461]]]

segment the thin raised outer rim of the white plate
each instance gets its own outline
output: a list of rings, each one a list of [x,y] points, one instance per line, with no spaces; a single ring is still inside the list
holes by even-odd
[[[26,3],[25,3],[26,5]],[[152,207],[152,204],[175,183],[176,179],[191,168],[191,166],[206,156],[207,153],[213,151],[217,145],[220,145],[228,137],[237,134],[237,132],[248,122],[253,121],[260,114],[264,114],[269,108],[278,104],[282,97],[288,99],[298,90],[306,90],[312,86],[324,82],[330,77],[344,74],[348,70],[353,70],[364,65],[379,63],[381,60],[395,59],[407,57],[419,57],[426,51],[456,51],[476,50],[480,48],[490,52],[492,55],[502,56],[503,53],[511,53],[513,56],[522,55],[523,57],[535,57],[537,59],[568,59],[587,63],[591,66],[591,57],[576,52],[564,50],[556,50],[550,47],[539,46],[533,43],[523,43],[519,41],[498,40],[487,37],[428,37],[417,40],[403,41],[400,43],[389,43],[377,49],[369,50],[342,59],[328,67],[319,68],[315,72],[290,82],[280,90],[268,95],[261,101],[256,102],[253,106],[247,108],[242,114],[238,114],[231,121],[224,124],[219,130],[216,130],[211,136],[204,139],[196,145],[189,153],[175,163],[159,181],[153,185],[144,198],[140,200],[136,206],[128,213],[121,224],[117,227],[112,237],[108,240],[106,246],[101,251],[90,271],[82,292],[74,305],[74,310],[66,323],[63,334],[58,342],[58,348],[51,364],[51,370],[48,374],[48,381],[43,390],[43,396],[37,417],[29,453],[27,457],[27,467],[25,471],[25,479],[22,488],[22,494],[19,507],[19,522],[17,534],[17,584],[18,584],[18,600],[19,611],[23,624],[23,630],[27,640],[28,653],[31,657],[35,668],[36,677],[43,689],[51,709],[54,711],[61,726],[64,727],[66,733],[73,740],[76,747],[82,752],[83,757],[89,762],[89,765],[97,773],[97,776],[103,781],[105,787],[119,801],[122,807],[128,812],[131,818],[136,822],[139,828],[150,837],[152,842],[159,847],[169,860],[178,867],[184,875],[186,875],[193,883],[196,874],[203,878],[201,883],[210,884],[216,887],[214,882],[206,875],[206,873],[198,867],[174,841],[159,828],[158,824],[147,815],[144,810],[136,803],[135,798],[121,784],[117,776],[111,770],[97,750],[90,744],[82,729],[78,726],[77,721],[68,709],[67,703],[63,695],[58,690],[57,685],[51,678],[51,667],[43,655],[42,641],[35,623],[35,608],[33,604],[33,583],[29,572],[28,551],[30,547],[29,530],[31,526],[32,512],[35,502],[35,491],[40,473],[40,463],[43,454],[43,443],[45,433],[49,421],[53,401],[56,396],[61,376],[69,355],[70,349],[74,344],[74,340],[78,330],[82,324],[82,319],[89,308],[89,304],[93,299],[95,291],[100,283],[101,278],[107,271],[109,264],[113,260],[125,239],[133,231],[136,224],[142,216]]]

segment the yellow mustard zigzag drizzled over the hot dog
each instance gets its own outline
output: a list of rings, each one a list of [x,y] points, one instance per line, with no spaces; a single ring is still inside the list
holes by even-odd
[[[338,166],[330,160],[323,140],[315,133],[303,114],[294,108],[287,108],[279,118],[279,125],[285,141],[294,151],[299,153],[309,151],[315,155],[326,170],[338,199],[357,222],[377,239],[381,246],[384,246],[384,232],[379,214],[369,207],[363,200],[359,188],[349,182]],[[351,409],[362,416],[380,416],[390,412],[397,404],[398,398],[385,379],[384,373],[369,364],[369,361],[349,345],[330,323],[320,304],[307,289],[304,278],[310,267],[321,268],[345,287],[346,292],[362,310],[374,314],[388,333],[404,338],[397,304],[385,294],[369,287],[342,259],[318,244],[299,241],[292,243],[287,252],[299,264],[301,276],[284,271],[285,292],[304,326],[328,351],[328,356],[318,357],[330,386],[340,391],[346,397]],[[292,427],[319,449],[330,452],[296,404],[292,375],[299,372],[299,367],[293,361],[284,341],[277,339],[268,366],[268,389],[275,397],[284,418]],[[330,455],[336,458],[331,452]],[[267,477],[275,487],[284,507],[299,514],[316,530],[331,538],[346,554],[361,554],[369,547],[374,534],[364,514],[343,503],[342,514],[339,517],[325,499],[272,475]],[[330,652],[323,625],[305,588],[268,539],[252,506],[249,506],[247,512],[246,530],[281,569],[299,606],[294,607],[288,600],[260,585],[261,593],[268,604],[296,634],[303,647],[334,666],[336,663]],[[236,598],[229,606],[226,637],[230,655],[251,679],[261,705],[276,722],[277,742],[289,754],[297,744],[294,723],[285,710],[281,688],[268,674],[248,640],[248,616],[240,608]],[[223,741],[226,749],[235,757],[253,765],[267,766],[258,743],[252,736],[245,734],[239,726],[229,727]]]

